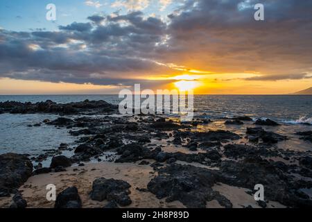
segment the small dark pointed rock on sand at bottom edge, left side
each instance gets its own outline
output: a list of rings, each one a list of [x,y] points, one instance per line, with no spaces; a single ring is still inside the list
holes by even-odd
[[[81,199],[76,187],[69,187],[56,197],[55,208],[81,208]]]

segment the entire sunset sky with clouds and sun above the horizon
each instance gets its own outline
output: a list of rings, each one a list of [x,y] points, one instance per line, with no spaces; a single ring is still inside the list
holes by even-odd
[[[0,1],[0,94],[118,94],[135,83],[196,94],[311,87],[312,1]]]

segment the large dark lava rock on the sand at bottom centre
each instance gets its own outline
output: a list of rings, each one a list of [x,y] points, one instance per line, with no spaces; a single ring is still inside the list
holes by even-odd
[[[153,178],[147,187],[148,191],[166,202],[179,200],[186,207],[203,208],[207,201],[218,200],[224,207],[232,207],[225,196],[211,187],[216,183],[216,177],[211,171],[193,166],[171,164],[158,170],[159,176]]]

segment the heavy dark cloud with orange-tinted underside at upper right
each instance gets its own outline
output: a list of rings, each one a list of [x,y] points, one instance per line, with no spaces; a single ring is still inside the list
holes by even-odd
[[[263,3],[265,21],[254,20]],[[211,71],[297,73],[311,67],[312,1],[187,1],[171,15],[166,58]],[[296,69],[296,71],[294,71]]]

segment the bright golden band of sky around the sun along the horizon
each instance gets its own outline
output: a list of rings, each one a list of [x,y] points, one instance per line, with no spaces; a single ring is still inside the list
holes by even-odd
[[[32,45],[33,50],[38,50]],[[173,66],[173,65],[172,65]],[[209,73],[198,69],[180,69],[175,67],[175,74],[153,76],[129,75],[128,78],[152,80],[150,89],[193,89],[195,94],[288,94],[311,87],[312,79],[303,80],[245,80],[245,78],[261,76],[260,73]],[[208,73],[208,71],[207,71]],[[101,76],[100,76],[101,78]],[[155,80],[155,82],[153,81]],[[157,80],[167,80],[168,83]],[[155,83],[155,84],[154,84]],[[0,78],[0,94],[118,94],[121,87],[92,84],[47,83],[36,80],[13,80]]]

